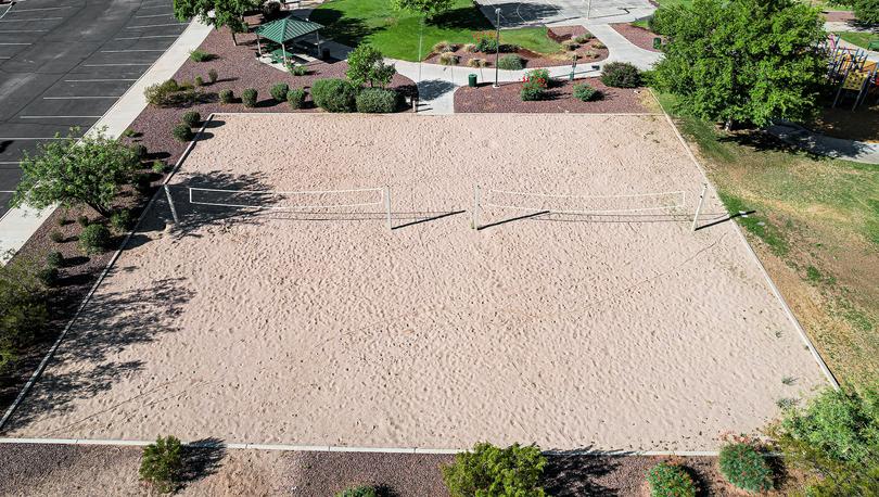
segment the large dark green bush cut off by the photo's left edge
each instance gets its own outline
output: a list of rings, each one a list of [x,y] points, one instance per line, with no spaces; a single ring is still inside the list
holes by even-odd
[[[49,320],[39,271],[40,266],[26,256],[0,265],[0,372],[16,365],[20,352]]]

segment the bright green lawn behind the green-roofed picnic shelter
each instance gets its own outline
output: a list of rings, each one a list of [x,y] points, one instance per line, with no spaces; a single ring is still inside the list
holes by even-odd
[[[404,61],[418,60],[418,38],[421,18],[391,8],[388,0],[331,0],[317,8],[310,21],[326,28],[321,34],[340,43],[356,47],[368,42],[386,56]],[[475,31],[493,31],[494,27],[470,0],[456,0],[453,8],[424,25],[422,59],[440,41],[473,42]],[[551,54],[561,49],[546,36],[545,27],[505,29],[502,43],[514,43],[537,53]]]

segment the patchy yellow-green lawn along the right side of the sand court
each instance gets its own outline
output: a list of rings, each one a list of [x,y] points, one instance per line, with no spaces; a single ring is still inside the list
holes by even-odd
[[[675,99],[660,95],[674,113]],[[840,381],[879,371],[879,166],[816,158],[676,115],[752,246]]]

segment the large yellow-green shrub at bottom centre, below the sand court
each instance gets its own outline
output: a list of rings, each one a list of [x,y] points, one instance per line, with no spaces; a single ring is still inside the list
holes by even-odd
[[[536,445],[499,448],[481,443],[443,467],[443,481],[451,497],[543,497],[539,482],[545,467],[546,458]]]

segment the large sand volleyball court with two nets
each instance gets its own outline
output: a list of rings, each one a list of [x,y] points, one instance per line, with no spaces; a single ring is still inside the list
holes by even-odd
[[[703,181],[661,116],[217,115],[8,435],[714,449],[826,380]]]

